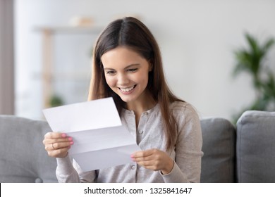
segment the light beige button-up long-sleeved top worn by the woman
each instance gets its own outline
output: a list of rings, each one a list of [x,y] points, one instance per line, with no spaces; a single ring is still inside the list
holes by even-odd
[[[159,104],[145,111],[135,125],[135,113],[123,110],[121,122],[135,138],[142,150],[157,148],[175,162],[169,174],[145,169],[132,162],[105,169],[82,172],[69,157],[57,158],[56,177],[59,182],[200,182],[202,132],[200,119],[189,103],[174,102],[169,110],[175,117],[178,137],[176,145],[166,151],[166,137]]]

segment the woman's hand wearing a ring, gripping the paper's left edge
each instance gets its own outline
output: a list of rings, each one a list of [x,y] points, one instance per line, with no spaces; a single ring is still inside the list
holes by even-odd
[[[73,138],[59,132],[48,132],[44,136],[43,144],[49,156],[65,158],[68,155],[68,149],[73,145]]]

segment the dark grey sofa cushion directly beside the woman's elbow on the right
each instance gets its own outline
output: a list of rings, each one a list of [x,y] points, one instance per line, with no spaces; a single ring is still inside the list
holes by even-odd
[[[236,182],[236,128],[224,118],[204,118],[200,182]]]

